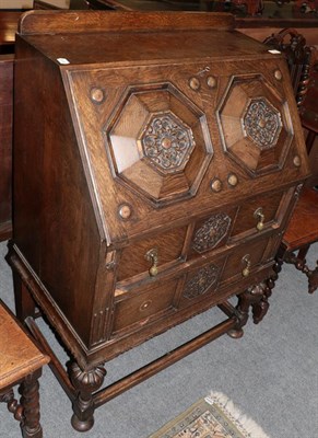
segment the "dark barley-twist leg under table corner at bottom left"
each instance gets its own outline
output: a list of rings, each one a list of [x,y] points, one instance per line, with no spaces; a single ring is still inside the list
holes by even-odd
[[[21,422],[23,438],[43,438],[42,426],[39,424],[39,393],[38,378],[42,370],[27,376],[21,384],[21,405],[23,418]]]

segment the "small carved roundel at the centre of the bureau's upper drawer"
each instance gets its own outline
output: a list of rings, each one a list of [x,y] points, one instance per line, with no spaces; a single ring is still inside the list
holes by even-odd
[[[231,218],[223,212],[211,216],[196,231],[192,247],[198,253],[212,250],[227,234],[231,226]]]

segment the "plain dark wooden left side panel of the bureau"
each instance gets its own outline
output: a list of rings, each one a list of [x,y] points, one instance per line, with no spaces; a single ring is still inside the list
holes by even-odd
[[[26,58],[16,61],[14,74],[20,96],[14,111],[14,239],[42,279],[43,293],[50,291],[66,325],[89,343],[103,243],[59,71],[32,48],[24,50]],[[36,85],[24,87],[32,82]]]

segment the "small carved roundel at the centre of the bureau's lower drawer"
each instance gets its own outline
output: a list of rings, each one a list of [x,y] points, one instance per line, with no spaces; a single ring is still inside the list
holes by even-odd
[[[204,266],[197,274],[190,275],[186,283],[184,297],[191,299],[204,295],[209,288],[216,284],[220,274],[220,267],[216,265]]]

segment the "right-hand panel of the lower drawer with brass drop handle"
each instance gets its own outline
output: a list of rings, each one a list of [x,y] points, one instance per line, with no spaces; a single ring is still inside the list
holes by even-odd
[[[261,265],[268,244],[267,238],[234,247],[227,257],[220,283],[238,280],[252,274]]]

